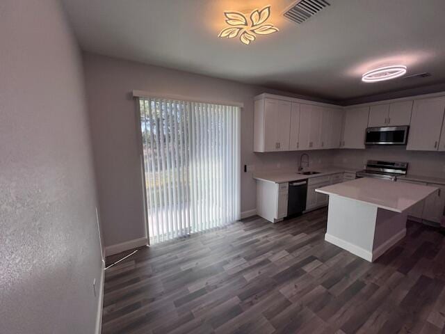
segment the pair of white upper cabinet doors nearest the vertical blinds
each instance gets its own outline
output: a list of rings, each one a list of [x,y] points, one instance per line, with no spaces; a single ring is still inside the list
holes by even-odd
[[[291,102],[266,99],[264,103],[265,151],[289,150]]]

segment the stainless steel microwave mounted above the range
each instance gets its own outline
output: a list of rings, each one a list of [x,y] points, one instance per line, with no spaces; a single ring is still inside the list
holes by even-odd
[[[369,127],[366,129],[365,145],[406,145],[408,125],[401,127]]]

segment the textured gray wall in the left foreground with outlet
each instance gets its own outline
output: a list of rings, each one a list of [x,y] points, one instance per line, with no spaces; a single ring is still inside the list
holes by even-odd
[[[0,332],[94,333],[102,260],[79,48],[56,0],[2,0],[0,41]]]

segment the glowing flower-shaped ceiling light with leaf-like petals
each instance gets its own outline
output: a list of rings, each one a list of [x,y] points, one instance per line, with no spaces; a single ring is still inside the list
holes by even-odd
[[[218,37],[235,38],[239,36],[239,40],[245,45],[253,42],[257,35],[268,35],[275,33],[278,28],[273,24],[264,24],[270,17],[270,6],[266,6],[261,10],[255,9],[250,13],[250,22],[246,15],[239,12],[225,11],[225,22],[229,24],[228,28],[223,29]]]

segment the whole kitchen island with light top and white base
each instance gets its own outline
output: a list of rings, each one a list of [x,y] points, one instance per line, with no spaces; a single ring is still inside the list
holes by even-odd
[[[373,262],[405,237],[407,209],[435,191],[369,177],[316,189],[329,196],[325,240]]]

